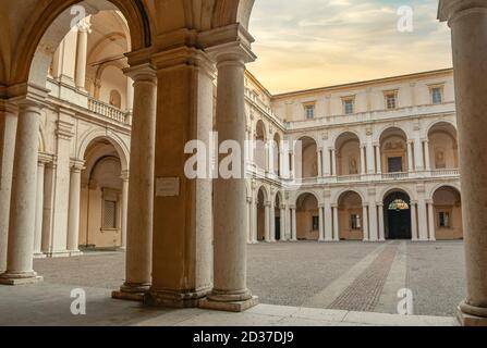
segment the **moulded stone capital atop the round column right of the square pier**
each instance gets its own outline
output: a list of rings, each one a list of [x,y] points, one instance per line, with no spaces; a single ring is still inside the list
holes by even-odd
[[[240,62],[251,63],[256,60],[252,52],[252,42],[255,39],[240,24],[232,24],[226,27],[203,32],[199,34],[199,41],[205,51],[218,63]]]

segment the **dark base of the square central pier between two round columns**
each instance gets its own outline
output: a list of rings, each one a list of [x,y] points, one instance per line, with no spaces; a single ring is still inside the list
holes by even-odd
[[[195,293],[150,289],[144,296],[144,304],[166,308],[197,308],[210,291],[210,288]]]

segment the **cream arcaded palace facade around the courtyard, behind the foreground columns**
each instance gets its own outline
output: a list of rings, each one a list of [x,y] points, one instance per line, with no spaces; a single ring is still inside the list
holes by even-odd
[[[36,257],[126,246],[127,32],[120,12],[104,11],[53,54],[38,137]],[[261,141],[247,158],[249,244],[463,237],[451,70],[278,96],[247,72],[245,110],[246,139]],[[282,146],[297,140],[301,163]]]

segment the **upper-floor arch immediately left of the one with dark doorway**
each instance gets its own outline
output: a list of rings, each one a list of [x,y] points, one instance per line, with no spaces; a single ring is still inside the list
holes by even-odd
[[[361,140],[353,133],[344,133],[338,137],[337,149],[337,174],[358,175],[361,174],[362,157]]]

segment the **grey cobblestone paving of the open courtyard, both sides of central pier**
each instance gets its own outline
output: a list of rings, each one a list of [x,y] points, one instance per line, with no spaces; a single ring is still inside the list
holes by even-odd
[[[463,243],[401,244],[406,253],[404,285],[414,293],[415,314],[454,315],[456,304],[465,297]],[[385,283],[394,275],[391,270],[397,269],[393,266],[397,248],[398,243],[387,246],[362,243],[249,246],[248,286],[263,303],[300,307],[315,295],[326,294],[329,286],[339,284],[343,291],[331,306],[324,303],[322,308],[377,311]],[[367,257],[370,264],[360,269],[354,278],[343,276],[364,263]],[[35,269],[49,284],[115,289],[124,279],[124,254],[41,259],[35,260]],[[397,303],[394,301],[391,302]],[[314,307],[319,308],[319,303]],[[380,311],[394,313],[395,306],[386,310],[382,307]]]

